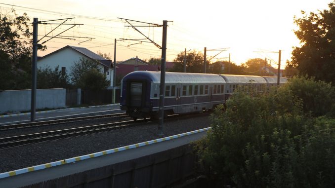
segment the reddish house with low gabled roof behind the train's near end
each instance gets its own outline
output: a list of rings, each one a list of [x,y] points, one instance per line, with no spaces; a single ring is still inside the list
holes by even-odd
[[[173,62],[166,62],[166,71],[173,67]],[[126,61],[117,63],[116,75],[119,77],[124,77],[128,73],[134,71],[160,71],[160,65],[150,65],[147,62],[136,58],[130,58]]]

